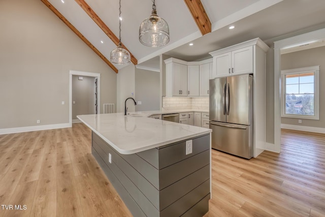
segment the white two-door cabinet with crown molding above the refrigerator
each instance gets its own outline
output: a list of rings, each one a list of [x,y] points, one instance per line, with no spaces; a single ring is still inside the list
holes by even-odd
[[[210,79],[240,74],[253,74],[256,46],[266,52],[269,47],[261,39],[253,39],[213,51],[213,71]]]

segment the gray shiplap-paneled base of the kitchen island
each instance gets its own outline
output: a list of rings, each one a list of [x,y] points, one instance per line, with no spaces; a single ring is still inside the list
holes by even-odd
[[[186,141],[192,153],[186,154]],[[92,132],[91,152],[134,216],[203,216],[209,211],[210,134],[121,154]]]

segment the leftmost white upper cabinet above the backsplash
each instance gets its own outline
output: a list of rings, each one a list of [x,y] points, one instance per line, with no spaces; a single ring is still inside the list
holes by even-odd
[[[166,63],[166,97],[187,96],[187,62],[169,58]]]

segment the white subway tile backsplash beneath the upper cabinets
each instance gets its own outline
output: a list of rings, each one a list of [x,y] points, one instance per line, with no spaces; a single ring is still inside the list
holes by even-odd
[[[163,108],[209,110],[209,97],[163,97]]]

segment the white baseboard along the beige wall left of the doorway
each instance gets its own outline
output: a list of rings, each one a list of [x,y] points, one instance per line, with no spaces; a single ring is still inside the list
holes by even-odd
[[[70,128],[70,127],[71,127],[70,123],[58,123],[56,125],[40,125],[40,126],[30,126],[30,127],[21,127],[21,128],[6,128],[6,129],[0,129],[0,135],[1,134],[10,134],[10,133],[39,131],[39,130]]]

